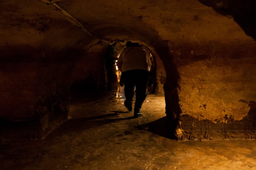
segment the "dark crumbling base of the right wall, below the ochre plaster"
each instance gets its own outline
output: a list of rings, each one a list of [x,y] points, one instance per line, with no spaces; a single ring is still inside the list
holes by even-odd
[[[256,139],[256,102],[250,102],[250,111],[241,121],[214,123],[181,115],[175,133],[178,140]]]

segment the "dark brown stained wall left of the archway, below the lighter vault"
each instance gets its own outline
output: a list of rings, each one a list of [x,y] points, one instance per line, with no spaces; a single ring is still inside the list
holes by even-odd
[[[42,138],[67,120],[74,56],[81,51],[1,49],[0,139]]]

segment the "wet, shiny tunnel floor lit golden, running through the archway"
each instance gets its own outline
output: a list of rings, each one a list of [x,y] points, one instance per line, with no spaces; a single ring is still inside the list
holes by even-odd
[[[69,120],[42,140],[0,145],[1,170],[254,170],[255,140],[177,142],[164,96],[148,94],[143,116],[124,107],[122,89],[77,93]],[[90,96],[90,97],[84,97]]]

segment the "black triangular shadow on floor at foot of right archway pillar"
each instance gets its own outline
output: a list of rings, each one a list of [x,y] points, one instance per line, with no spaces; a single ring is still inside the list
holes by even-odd
[[[177,137],[174,133],[175,127],[175,123],[172,123],[172,120],[170,120],[167,116],[162,117],[154,122],[137,126],[137,128],[140,130],[147,130],[159,136],[177,140]]]

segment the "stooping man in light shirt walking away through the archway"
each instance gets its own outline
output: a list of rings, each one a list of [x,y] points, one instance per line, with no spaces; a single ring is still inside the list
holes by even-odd
[[[122,72],[125,85],[125,107],[132,111],[134,87],[136,86],[136,99],[134,104],[134,117],[142,116],[140,109],[146,99],[146,90],[151,66],[150,55],[140,47],[139,43],[126,42],[125,48],[118,60],[118,69]]]

